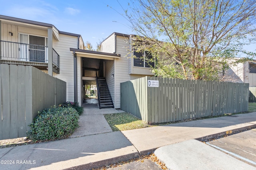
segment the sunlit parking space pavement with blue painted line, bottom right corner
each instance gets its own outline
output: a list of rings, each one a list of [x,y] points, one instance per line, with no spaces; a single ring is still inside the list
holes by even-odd
[[[256,129],[223,137],[207,144],[256,167]]]

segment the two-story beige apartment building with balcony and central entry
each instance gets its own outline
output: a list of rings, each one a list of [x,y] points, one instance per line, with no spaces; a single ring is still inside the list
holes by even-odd
[[[120,83],[152,76],[147,63],[128,54],[130,35],[113,33],[97,52],[84,50],[81,35],[52,24],[0,15],[0,25],[0,63],[34,66],[65,81],[67,101],[82,104],[84,87],[96,84],[97,74],[106,80],[114,107],[120,108]]]

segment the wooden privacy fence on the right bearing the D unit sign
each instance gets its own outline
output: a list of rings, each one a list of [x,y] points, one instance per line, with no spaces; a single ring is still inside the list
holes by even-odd
[[[148,87],[157,80],[159,87]],[[144,77],[121,83],[121,109],[149,123],[247,111],[249,84]]]

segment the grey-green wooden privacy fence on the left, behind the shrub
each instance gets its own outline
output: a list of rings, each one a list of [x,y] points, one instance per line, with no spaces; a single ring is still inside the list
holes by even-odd
[[[26,137],[38,111],[64,102],[66,82],[32,66],[0,64],[0,140]]]

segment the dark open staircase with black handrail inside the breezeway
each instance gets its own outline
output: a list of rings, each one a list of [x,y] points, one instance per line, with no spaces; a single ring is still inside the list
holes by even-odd
[[[100,96],[98,96],[100,109],[114,108],[114,104],[105,78],[98,78],[98,91],[100,92]]]

